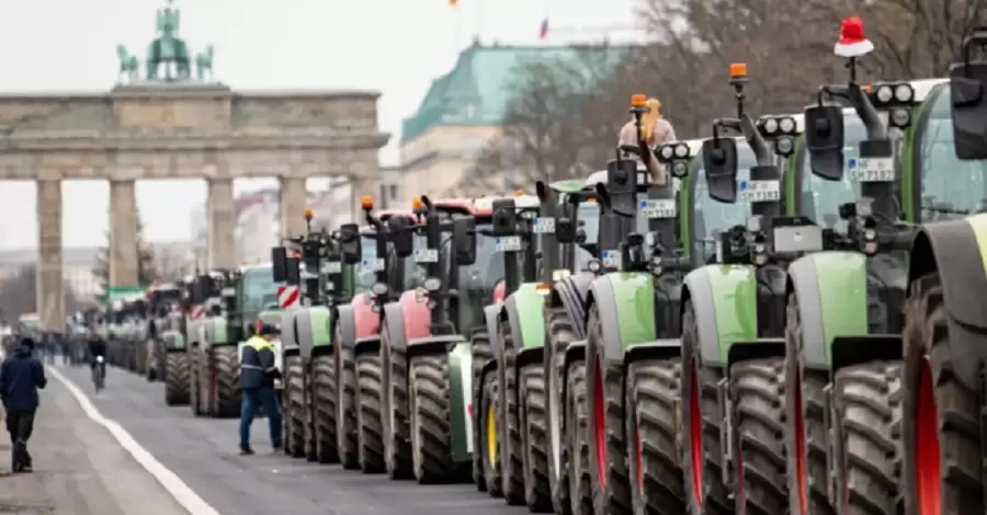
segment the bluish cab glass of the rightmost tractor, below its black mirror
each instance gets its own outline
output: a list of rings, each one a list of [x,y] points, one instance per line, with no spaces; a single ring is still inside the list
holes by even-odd
[[[928,117],[916,127],[920,221],[948,220],[987,208],[987,161],[961,161],[953,148],[949,87],[940,88],[930,102]]]

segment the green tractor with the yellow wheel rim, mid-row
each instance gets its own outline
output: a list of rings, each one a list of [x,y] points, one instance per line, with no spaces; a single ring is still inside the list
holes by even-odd
[[[557,252],[554,240],[541,236],[554,230],[552,224],[554,218],[540,216],[538,199],[524,195],[494,201],[491,226],[479,230],[480,236],[492,239],[494,250],[502,261],[503,290],[484,308],[487,332],[483,334],[495,335],[494,342],[478,342],[476,337],[473,341],[472,358],[480,362],[474,379],[478,384],[470,389],[473,433],[478,444],[473,458],[474,474],[490,495],[503,495],[509,504],[523,504],[525,494],[531,493],[532,510],[548,505],[537,495],[544,489],[525,492],[525,485],[536,488],[537,482],[525,477],[524,464],[536,460],[544,449],[524,447],[526,435],[521,430],[526,420],[519,410],[519,396],[523,387],[531,387],[532,396],[544,394],[544,387],[527,380],[532,370],[541,374],[541,366],[531,363],[532,354],[524,351],[541,347],[544,340],[538,254]],[[538,389],[541,393],[535,391]]]

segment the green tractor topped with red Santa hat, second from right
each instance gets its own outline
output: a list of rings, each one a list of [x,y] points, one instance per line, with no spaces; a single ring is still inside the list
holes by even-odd
[[[941,81],[874,83],[869,92],[856,82],[858,57],[849,59],[849,82],[824,85],[806,110],[812,173],[830,182],[850,174],[859,193],[839,205],[843,222],[827,234],[827,251],[789,270],[782,380],[792,513],[897,510],[907,251],[934,174],[952,173],[915,165],[914,114],[927,112],[922,101]],[[851,159],[847,114],[827,98],[847,100],[863,127]],[[921,211],[948,210],[931,204]]]

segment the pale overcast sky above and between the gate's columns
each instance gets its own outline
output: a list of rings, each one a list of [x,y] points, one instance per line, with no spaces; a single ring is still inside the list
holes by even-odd
[[[140,56],[155,35],[160,0],[3,0],[0,91],[106,91],[116,45]],[[198,52],[215,46],[217,79],[236,89],[371,89],[383,92],[379,124],[394,136],[382,152],[396,164],[400,119],[432,79],[447,72],[475,34],[501,44],[561,44],[634,23],[635,0],[195,0],[181,9],[181,36]],[[549,37],[537,39],[542,19]],[[554,30],[554,32],[553,32]],[[614,41],[640,37],[616,30]],[[143,71],[143,69],[141,69]],[[236,190],[273,185],[238,181]],[[310,188],[318,183],[309,184]],[[109,226],[104,182],[64,183],[66,247],[99,245]],[[137,201],[154,241],[190,237],[205,199],[201,181],[138,183]],[[35,248],[33,183],[0,181],[0,249]]]

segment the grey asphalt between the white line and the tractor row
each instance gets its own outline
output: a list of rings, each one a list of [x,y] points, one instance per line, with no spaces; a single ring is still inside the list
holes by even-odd
[[[473,484],[422,487],[273,454],[264,420],[253,424],[252,443],[258,455],[241,457],[237,421],[196,419],[188,407],[168,408],[161,384],[148,384],[111,368],[106,390],[95,396],[87,369],[58,369],[92,399],[104,416],[120,423],[223,515],[527,513],[526,508],[507,506],[502,500],[477,492]]]

